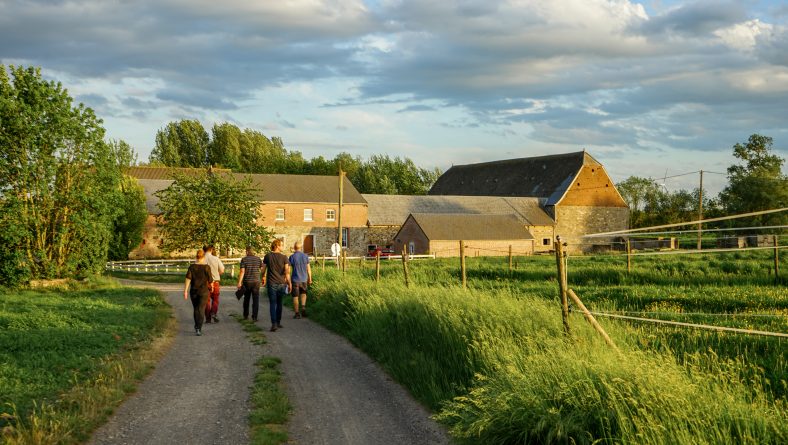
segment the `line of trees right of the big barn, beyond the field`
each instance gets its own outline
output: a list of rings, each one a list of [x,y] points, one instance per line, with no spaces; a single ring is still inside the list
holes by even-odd
[[[733,146],[736,164],[727,169],[728,184],[717,196],[703,195],[703,217],[750,213],[788,207],[785,159],[773,151],[771,137],[753,134]],[[700,188],[670,192],[651,178],[630,176],[616,184],[629,204],[632,228],[698,219]],[[712,227],[763,227],[788,224],[788,212],[760,215],[712,224]]]

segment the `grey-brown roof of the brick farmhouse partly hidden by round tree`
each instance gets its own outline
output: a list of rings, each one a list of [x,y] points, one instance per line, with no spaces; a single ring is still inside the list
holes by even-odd
[[[175,173],[198,174],[201,169],[166,167],[131,167],[126,174],[137,178],[145,189],[145,205],[148,213],[158,214],[159,198],[154,193],[166,189],[173,182]],[[283,175],[283,174],[246,174],[232,173],[226,169],[214,169],[214,173],[232,176],[236,180],[250,177],[260,201],[292,203],[336,203],[339,201],[339,183],[336,176]],[[345,177],[343,202],[345,204],[366,204],[361,194]]]

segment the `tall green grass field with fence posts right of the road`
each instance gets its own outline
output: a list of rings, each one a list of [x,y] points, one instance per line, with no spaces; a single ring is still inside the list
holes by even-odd
[[[785,255],[783,256],[785,257]],[[786,443],[788,342],[582,316],[563,334],[554,257],[314,267],[310,316],[347,336],[464,443]],[[785,261],[783,258],[783,271]],[[570,258],[592,311],[788,332],[770,252]],[[722,315],[720,315],[722,314]]]

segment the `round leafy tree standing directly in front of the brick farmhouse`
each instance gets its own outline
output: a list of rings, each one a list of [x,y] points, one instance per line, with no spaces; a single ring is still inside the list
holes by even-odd
[[[176,175],[168,188],[156,193],[162,212],[158,217],[162,250],[197,249],[208,243],[217,249],[263,249],[271,233],[259,225],[256,193],[248,178],[237,181],[207,172]]]

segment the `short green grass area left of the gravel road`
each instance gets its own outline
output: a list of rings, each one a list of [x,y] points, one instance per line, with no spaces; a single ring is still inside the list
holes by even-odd
[[[0,292],[2,441],[87,440],[163,355],[174,326],[157,292],[106,280]]]

